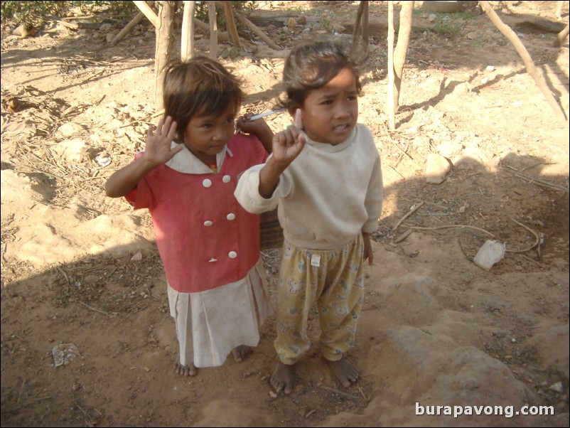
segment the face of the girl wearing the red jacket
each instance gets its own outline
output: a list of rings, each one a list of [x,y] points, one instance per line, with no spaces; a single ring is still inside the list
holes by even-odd
[[[220,153],[235,132],[235,106],[228,105],[221,116],[195,114],[184,131],[184,144],[205,164],[215,164]]]

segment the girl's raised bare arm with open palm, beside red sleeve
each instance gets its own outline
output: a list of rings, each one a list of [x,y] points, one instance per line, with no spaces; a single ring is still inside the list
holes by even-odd
[[[144,154],[138,161],[124,166],[112,176],[105,184],[105,193],[110,198],[119,198],[134,191],[137,183],[152,171],[156,166],[165,164],[172,157],[181,151],[182,146],[171,149],[171,142],[176,132],[176,122],[171,117],[166,120],[160,119],[156,127],[156,134],[153,127],[149,127],[146,134],[146,147]]]

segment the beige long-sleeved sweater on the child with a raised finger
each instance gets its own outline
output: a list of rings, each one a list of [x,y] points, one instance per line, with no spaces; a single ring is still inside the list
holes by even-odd
[[[259,195],[263,165],[245,171],[235,190],[240,204],[250,213],[279,206],[285,239],[297,247],[330,250],[360,232],[375,231],[382,213],[382,169],[370,130],[357,124],[336,146],[306,141],[269,199]]]

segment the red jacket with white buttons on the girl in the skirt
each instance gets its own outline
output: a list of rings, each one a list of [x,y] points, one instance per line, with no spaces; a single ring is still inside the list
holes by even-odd
[[[259,215],[247,213],[234,191],[241,173],[264,163],[267,152],[256,137],[243,134],[235,134],[227,149],[217,173],[161,165],[126,196],[135,209],[149,209],[166,279],[176,291],[236,282],[259,260]]]

